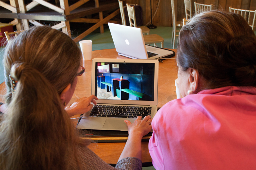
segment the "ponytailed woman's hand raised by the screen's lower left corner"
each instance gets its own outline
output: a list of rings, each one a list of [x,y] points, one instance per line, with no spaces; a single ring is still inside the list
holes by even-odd
[[[97,104],[96,100],[98,100],[98,98],[94,95],[76,99],[70,107],[65,107],[65,110],[70,117],[74,115],[81,115],[91,110],[93,107],[92,103],[94,105]]]

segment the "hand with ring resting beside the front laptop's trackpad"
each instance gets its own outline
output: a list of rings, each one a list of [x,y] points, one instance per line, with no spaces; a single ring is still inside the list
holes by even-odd
[[[150,132],[152,130],[152,126],[151,126],[151,116],[145,116],[144,119],[141,119],[141,116],[138,116],[137,119],[131,123],[128,120],[124,120],[124,122],[127,124],[128,126],[128,132],[129,135],[131,133],[136,133],[138,135],[141,135],[141,138],[145,135],[148,134],[148,132]]]

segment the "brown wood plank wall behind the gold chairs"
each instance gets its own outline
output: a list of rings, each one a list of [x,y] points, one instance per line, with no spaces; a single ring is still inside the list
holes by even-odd
[[[143,25],[150,21],[150,1],[152,3],[152,16],[156,11],[159,0],[125,0],[128,4],[138,4],[142,7]],[[246,10],[256,10],[256,0],[192,0],[192,11],[195,11],[194,2],[202,4],[213,4],[214,9],[229,11],[229,6]],[[185,18],[184,0],[174,0],[177,21]],[[195,12],[194,12],[195,13]],[[156,26],[172,26],[171,0],[160,0],[159,8],[153,19]]]

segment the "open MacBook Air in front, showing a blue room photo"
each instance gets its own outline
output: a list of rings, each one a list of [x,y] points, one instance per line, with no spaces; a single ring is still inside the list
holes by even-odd
[[[128,131],[124,120],[154,117],[157,89],[156,59],[93,59],[92,94],[99,100],[77,128]]]

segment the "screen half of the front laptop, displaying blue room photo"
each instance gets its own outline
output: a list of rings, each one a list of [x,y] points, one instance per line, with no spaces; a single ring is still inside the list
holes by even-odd
[[[99,98],[97,103],[157,105],[157,91],[156,59],[92,60],[92,94]]]

